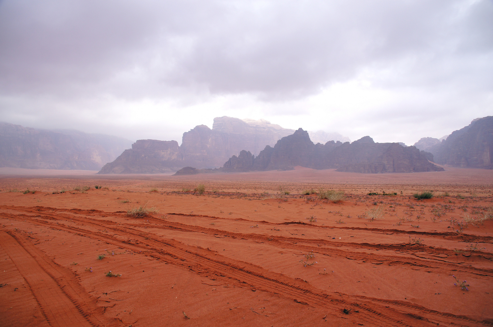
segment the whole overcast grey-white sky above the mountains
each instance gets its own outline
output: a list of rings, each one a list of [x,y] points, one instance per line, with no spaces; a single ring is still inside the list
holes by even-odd
[[[493,115],[492,0],[0,0],[0,121],[176,140],[214,117],[412,145]]]

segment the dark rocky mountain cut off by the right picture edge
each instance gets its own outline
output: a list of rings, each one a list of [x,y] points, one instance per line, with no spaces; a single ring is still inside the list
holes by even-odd
[[[493,169],[493,116],[474,119],[442,142],[423,138],[415,146],[431,152],[438,164]]]

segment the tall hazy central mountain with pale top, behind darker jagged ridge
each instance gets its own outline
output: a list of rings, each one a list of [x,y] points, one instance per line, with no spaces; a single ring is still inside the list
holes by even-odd
[[[176,141],[139,140],[132,149],[106,164],[99,174],[169,173],[184,166],[221,167],[242,149],[257,154],[293,132],[264,119],[217,117],[212,129],[198,125],[183,133],[181,146]]]

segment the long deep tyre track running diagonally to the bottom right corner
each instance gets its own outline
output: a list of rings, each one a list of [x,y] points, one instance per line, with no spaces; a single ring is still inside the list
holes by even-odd
[[[15,219],[15,216],[12,218]],[[23,219],[25,218],[26,217],[23,217]],[[73,219],[73,216],[72,218],[60,216],[60,218],[63,218],[62,220],[67,220]],[[79,220],[78,218],[79,217],[76,217],[74,220],[82,222],[82,220]],[[57,218],[53,217],[53,219]],[[353,309],[358,309],[358,311],[360,311],[358,314],[362,315],[362,317],[360,317],[362,321],[372,321],[378,326],[416,326],[416,321],[409,321],[409,317],[417,317],[417,315],[409,311],[416,311],[422,316],[427,316],[422,318],[430,322],[438,321],[445,324],[457,324],[460,322],[459,324],[461,326],[493,326],[493,324],[489,322],[480,322],[468,317],[455,316],[446,313],[444,314],[433,310],[423,312],[423,308],[420,306],[408,304],[399,305],[397,302],[393,302],[393,305],[398,306],[399,309],[390,310],[385,306],[376,304],[375,302],[378,301],[371,298],[365,299],[365,302],[371,301],[367,303],[357,303],[354,301],[356,299],[360,301],[363,300],[363,298],[346,296],[348,298],[347,300],[341,299],[310,286],[300,286],[296,284],[296,281],[292,278],[266,271],[265,269],[257,266],[241,263],[223,256],[218,256],[221,260],[212,259],[209,257],[210,252],[208,253],[207,250],[200,251],[195,247],[186,246],[175,240],[164,241],[149,237],[149,233],[145,234],[127,227],[121,228],[117,226],[107,226],[106,224],[102,226],[101,222],[98,224],[98,221],[95,219],[85,219],[89,221],[85,221],[84,223],[91,225],[94,228],[109,229],[119,237],[135,238],[136,244],[133,244],[130,241],[122,241],[114,236],[108,236],[99,232],[93,232],[54,222],[40,221],[32,217],[30,218],[33,222],[48,226],[50,228],[65,230],[71,233],[77,233],[79,235],[83,235],[81,233],[84,233],[85,235],[83,236],[95,239],[105,239],[105,241],[110,244],[127,248],[129,250],[139,251],[139,249],[142,249],[141,251],[147,255],[163,259],[168,263],[179,265],[183,268],[188,268],[199,274],[204,274],[206,276],[208,276],[208,274],[213,274],[217,277],[234,279],[239,283],[239,286],[242,286],[242,284],[245,286],[244,284],[247,284],[250,285],[250,287],[254,287],[262,291],[279,293],[283,296],[302,299],[312,305],[319,305],[334,310],[342,310],[343,307],[352,307]],[[113,224],[116,225],[114,222]],[[142,236],[142,234],[144,234],[144,236]],[[163,247],[167,247],[167,250],[164,250]],[[231,283],[231,281],[228,282]],[[376,308],[375,305],[377,305]],[[375,316],[378,318],[375,318]],[[385,319],[387,324],[383,324],[382,319]],[[466,323],[467,325],[464,325]]]

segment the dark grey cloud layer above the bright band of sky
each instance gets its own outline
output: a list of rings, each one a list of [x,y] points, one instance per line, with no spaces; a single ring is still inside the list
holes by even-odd
[[[491,1],[3,1],[2,93],[285,99],[364,69],[491,88]]]

